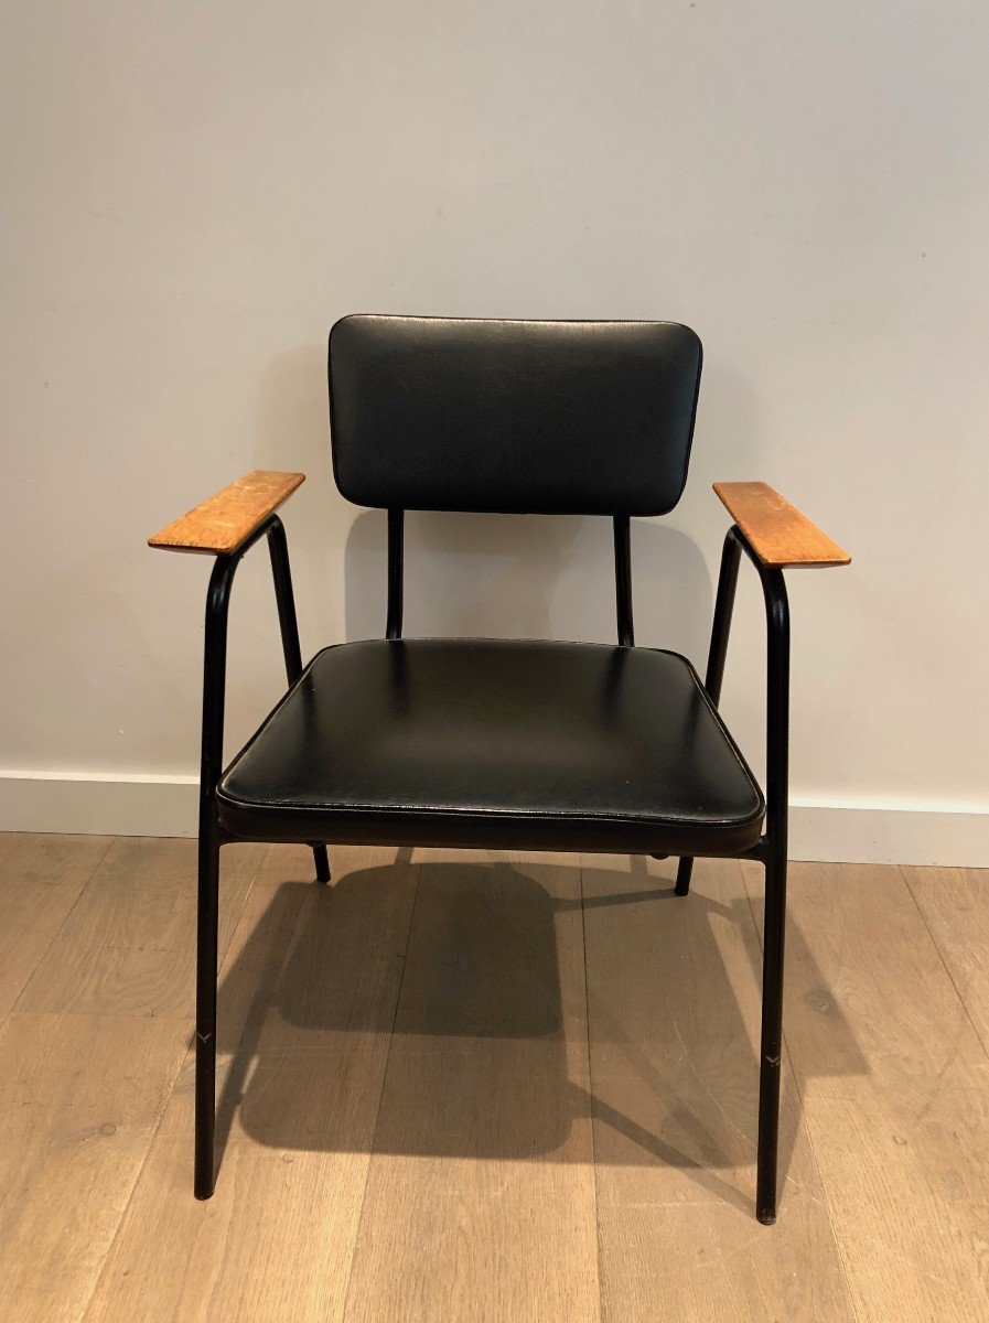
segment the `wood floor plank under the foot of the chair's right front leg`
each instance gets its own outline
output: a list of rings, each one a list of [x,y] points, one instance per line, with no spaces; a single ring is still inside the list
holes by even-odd
[[[738,865],[584,860],[603,1316],[851,1320],[784,1076],[780,1216],[755,1220],[760,953]]]

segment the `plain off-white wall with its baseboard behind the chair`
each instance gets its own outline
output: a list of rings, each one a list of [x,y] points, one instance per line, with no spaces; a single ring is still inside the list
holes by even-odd
[[[3,824],[192,830],[209,564],[144,540],[242,471],[309,475],[304,650],[379,632],[336,318],[656,316],[706,372],[640,642],[702,659],[710,483],[767,479],[855,557],[791,576],[793,796],[849,808],[797,849],[989,863],[988,46],[976,0],[8,8]],[[606,521],[411,516],[407,630],[611,638],[608,557]],[[241,574],[231,742],[280,687]],[[756,765],[760,613],[725,692]]]

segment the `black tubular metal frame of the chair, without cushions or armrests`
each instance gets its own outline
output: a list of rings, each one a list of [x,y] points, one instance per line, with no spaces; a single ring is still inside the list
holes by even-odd
[[[387,623],[386,638],[402,636],[403,516],[387,512]],[[616,515],[615,598],[617,639],[621,647],[635,646],[632,619],[631,523]],[[206,594],[206,638],[202,681],[202,762],[200,778],[198,851],[198,958],[196,979],[196,1197],[209,1199],[214,1188],[214,1118],[217,1053],[217,930],[219,847],[235,840],[219,823],[217,786],[223,761],[223,700],[226,691],[226,639],[230,587],[243,554],[267,537],[275,601],[282,630],[286,675],[292,685],[303,671],[299,627],[295,615],[288,546],[280,519],[270,515],[230,554],[218,556]],[[756,1216],[760,1222],[776,1220],[776,1177],[779,1147],[780,1057],[783,1049],[783,946],[787,902],[787,806],[789,755],[789,605],[780,569],[760,560],[742,531],[732,525],[726,537],[718,578],[718,595],[711,624],[705,687],[717,706],[721,700],[725,659],[735,603],[735,587],[742,552],[755,565],[766,598],[767,619],[767,815],[759,843],[736,857],[758,859],[766,868],[766,923],[763,938],[763,1015],[759,1066],[759,1139],[756,1175]],[[327,847],[307,841],[313,851],[316,877],[329,881]],[[662,857],[662,856],[657,856]],[[693,859],[681,859],[676,894],[690,890]]]

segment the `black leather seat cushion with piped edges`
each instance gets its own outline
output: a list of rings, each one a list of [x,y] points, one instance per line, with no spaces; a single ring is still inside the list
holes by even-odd
[[[319,652],[238,754],[253,840],[738,853],[763,796],[674,652],[411,639]]]

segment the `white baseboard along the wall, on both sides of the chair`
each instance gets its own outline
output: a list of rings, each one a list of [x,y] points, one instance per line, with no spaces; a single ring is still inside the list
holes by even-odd
[[[194,777],[0,771],[0,831],[194,836]],[[989,868],[989,806],[793,799],[789,856],[859,864]]]

